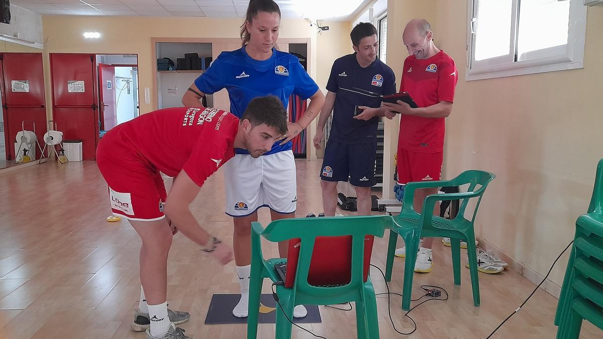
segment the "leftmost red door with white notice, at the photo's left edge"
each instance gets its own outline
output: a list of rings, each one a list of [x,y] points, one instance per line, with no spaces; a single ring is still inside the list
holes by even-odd
[[[46,98],[42,53],[5,53],[2,57],[7,159],[14,159],[17,132],[33,130],[36,124],[38,142],[43,144],[46,133]],[[24,122],[25,121],[25,122]],[[39,157],[40,152],[36,152]]]

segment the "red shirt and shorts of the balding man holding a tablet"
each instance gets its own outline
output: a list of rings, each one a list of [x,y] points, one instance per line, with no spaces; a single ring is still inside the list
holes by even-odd
[[[421,60],[414,55],[404,60],[400,92],[408,92],[418,107],[428,107],[440,101],[454,101],[458,72],[452,58],[438,52]],[[444,151],[444,118],[400,115],[398,148],[421,153]]]

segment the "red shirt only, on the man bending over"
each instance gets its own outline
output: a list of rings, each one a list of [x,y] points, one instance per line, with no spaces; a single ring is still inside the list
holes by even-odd
[[[234,156],[236,116],[219,109],[163,109],[123,124],[121,131],[157,170],[175,177],[184,170],[202,186]]]

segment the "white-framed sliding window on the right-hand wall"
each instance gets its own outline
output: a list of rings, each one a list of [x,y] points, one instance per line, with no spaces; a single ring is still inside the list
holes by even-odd
[[[582,1],[468,1],[467,80],[582,68]]]

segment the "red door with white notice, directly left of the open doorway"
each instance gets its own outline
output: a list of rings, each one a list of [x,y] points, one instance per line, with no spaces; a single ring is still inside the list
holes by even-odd
[[[63,139],[81,140],[84,160],[94,160],[99,116],[94,54],[50,54],[52,115]]]

